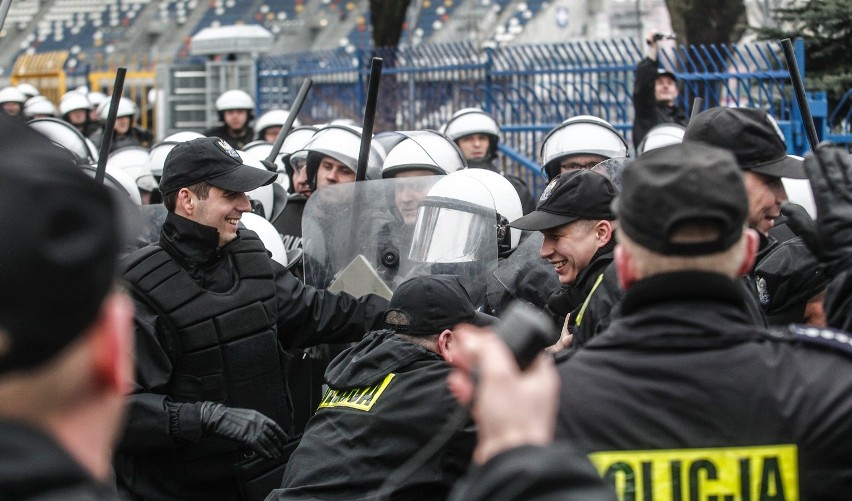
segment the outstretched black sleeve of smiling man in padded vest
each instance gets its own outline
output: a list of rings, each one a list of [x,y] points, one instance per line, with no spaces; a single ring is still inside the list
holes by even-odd
[[[348,343],[380,329],[386,299],[369,294],[355,299],[303,284],[275,263],[278,339],[285,349],[324,343]]]

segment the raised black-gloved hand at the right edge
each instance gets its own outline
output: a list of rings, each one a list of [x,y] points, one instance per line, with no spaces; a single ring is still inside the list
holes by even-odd
[[[793,230],[826,265],[829,276],[852,264],[852,158],[842,148],[822,143],[805,156],[805,170],[811,181],[817,220],[808,228],[801,212],[782,208]]]

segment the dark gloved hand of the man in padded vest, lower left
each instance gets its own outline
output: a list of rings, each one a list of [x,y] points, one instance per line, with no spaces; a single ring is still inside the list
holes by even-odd
[[[201,404],[201,430],[245,444],[265,458],[281,458],[287,443],[284,430],[263,414],[213,402]]]

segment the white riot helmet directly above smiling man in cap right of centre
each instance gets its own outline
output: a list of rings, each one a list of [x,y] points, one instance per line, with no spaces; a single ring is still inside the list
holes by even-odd
[[[559,163],[573,155],[598,155],[604,159],[629,157],[627,141],[609,122],[591,115],[565,120],[541,143],[541,170],[547,179],[559,174]]]

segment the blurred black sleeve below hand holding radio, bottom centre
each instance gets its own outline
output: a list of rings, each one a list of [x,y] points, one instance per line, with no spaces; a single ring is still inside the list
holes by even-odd
[[[523,446],[491,458],[453,488],[450,500],[615,501],[589,459],[564,443]]]

